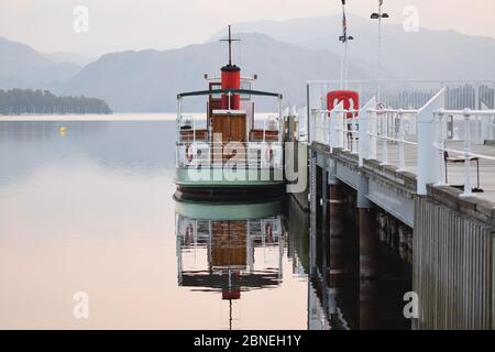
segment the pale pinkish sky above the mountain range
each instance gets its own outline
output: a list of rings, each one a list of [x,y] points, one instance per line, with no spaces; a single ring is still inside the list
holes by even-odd
[[[367,18],[377,2],[348,0],[348,12]],[[89,10],[88,33],[73,29],[80,4]],[[495,37],[494,0],[385,0],[384,9],[402,23],[408,6],[418,8],[422,28]],[[202,43],[232,22],[336,13],[340,0],[0,0],[0,36],[42,52],[97,56]]]

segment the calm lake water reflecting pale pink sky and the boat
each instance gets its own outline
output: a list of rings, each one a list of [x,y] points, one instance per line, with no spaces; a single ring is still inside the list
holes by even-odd
[[[148,120],[0,122],[0,329],[407,327],[398,289],[370,309],[359,280],[336,300],[308,277],[316,244],[288,199],[233,220],[177,204],[175,122]]]

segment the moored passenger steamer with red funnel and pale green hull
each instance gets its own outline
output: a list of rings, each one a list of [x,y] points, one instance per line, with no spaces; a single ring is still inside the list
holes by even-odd
[[[205,75],[207,90],[177,96],[175,183],[182,193],[234,195],[282,189],[282,95],[252,90],[257,76],[242,76],[241,68],[232,64],[234,41],[229,26],[229,64],[219,78]],[[206,117],[185,113],[186,100],[198,98],[206,98]],[[275,113],[256,112],[255,99],[262,100],[263,107],[270,100]]]

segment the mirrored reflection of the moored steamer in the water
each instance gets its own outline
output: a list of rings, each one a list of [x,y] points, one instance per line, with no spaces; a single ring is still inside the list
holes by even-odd
[[[177,200],[176,235],[180,286],[217,292],[232,305],[242,293],[276,287],[282,280],[286,230],[280,200]]]

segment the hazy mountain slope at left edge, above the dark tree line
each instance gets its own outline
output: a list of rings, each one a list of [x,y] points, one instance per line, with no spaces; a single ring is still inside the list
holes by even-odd
[[[47,88],[79,70],[79,66],[53,63],[25,44],[0,37],[0,88]]]

